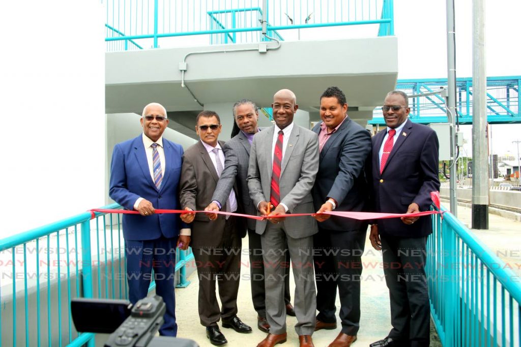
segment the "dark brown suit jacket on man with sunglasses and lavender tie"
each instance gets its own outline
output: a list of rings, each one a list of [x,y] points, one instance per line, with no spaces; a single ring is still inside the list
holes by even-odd
[[[224,142],[219,141],[221,148]],[[202,211],[212,202],[219,176],[208,151],[201,141],[187,148],[183,155],[183,166],[180,181],[180,200],[184,209]],[[237,193],[235,193],[237,195]],[[226,210],[226,200],[222,204]],[[204,213],[196,213],[192,226],[191,246],[193,248],[221,247],[224,237],[225,216],[219,215],[217,220],[210,221]],[[241,237],[246,234],[242,219],[238,219],[236,229]]]

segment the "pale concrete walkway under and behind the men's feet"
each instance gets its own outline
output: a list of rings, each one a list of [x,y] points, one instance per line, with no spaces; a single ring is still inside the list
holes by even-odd
[[[445,204],[448,205],[448,204]],[[471,220],[470,209],[459,207],[458,217],[465,224]],[[521,223],[508,220],[498,215],[489,216],[489,230],[473,230],[478,238],[497,254],[503,261],[511,264],[513,270],[521,274]],[[243,245],[247,245],[247,239],[243,239]],[[381,252],[375,251],[366,239],[364,256],[362,257],[364,271],[362,274],[362,317],[358,340],[353,346],[368,346],[387,336],[391,329],[389,292],[383,277],[381,262]],[[250,347],[256,346],[258,342],[265,338],[266,333],[257,329],[257,314],[253,310],[250,293],[249,280],[249,259],[246,254],[242,256],[241,285],[239,288],[239,313],[238,316],[244,323],[253,328],[250,334],[240,334],[232,329],[221,329],[228,339],[228,346]],[[193,273],[189,280],[191,284],[188,288],[176,290],[176,314],[179,324],[178,336],[195,340],[201,347],[212,346],[206,338],[205,328],[199,322],[197,311],[197,290],[198,280]],[[292,294],[294,293],[294,282],[291,278]],[[293,297],[292,297],[293,302]],[[337,296],[337,314],[340,301]],[[337,316],[338,319],[338,316]],[[287,318],[288,341],[284,346],[298,346],[299,339],[296,335],[294,325],[295,317]],[[315,346],[326,347],[340,332],[340,322],[336,330],[320,330],[314,333],[313,340]],[[431,346],[440,345],[436,341],[436,336],[431,337]]]

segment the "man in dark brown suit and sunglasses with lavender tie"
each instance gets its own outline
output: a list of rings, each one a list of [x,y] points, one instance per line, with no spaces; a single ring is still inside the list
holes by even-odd
[[[180,182],[180,200],[185,209],[202,211],[210,202],[219,176],[224,170],[224,142],[218,140],[221,132],[219,115],[202,111],[197,115],[195,131],[200,141],[189,147],[183,156]],[[238,208],[235,190],[224,199],[222,210],[235,212]],[[204,213],[185,214],[183,221],[192,224],[192,251],[199,275],[199,318],[206,327],[210,343],[221,346],[228,341],[217,323],[240,333],[252,328],[237,317],[239,292],[241,237],[246,235],[244,219],[219,215],[210,223]],[[221,307],[215,294],[219,288]]]

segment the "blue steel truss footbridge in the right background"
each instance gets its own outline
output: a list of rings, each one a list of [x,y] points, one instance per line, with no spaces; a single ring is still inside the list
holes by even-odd
[[[396,89],[408,95],[421,95],[447,87],[446,79],[398,80]],[[521,76],[487,78],[487,121],[494,124],[521,123]],[[472,78],[456,79],[456,113],[460,124],[472,124]],[[448,122],[443,98],[436,95],[416,96],[409,99],[410,118],[413,122]],[[373,113],[369,124],[385,124],[381,109]]]

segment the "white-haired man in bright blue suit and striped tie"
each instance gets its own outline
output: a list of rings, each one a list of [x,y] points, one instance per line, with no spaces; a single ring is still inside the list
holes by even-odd
[[[188,248],[190,229],[177,214],[154,213],[156,208],[180,209],[178,185],[183,149],[163,138],[167,125],[162,105],[145,106],[141,117],[143,134],[114,147],[109,195],[124,209],[139,211],[123,215],[129,299],[135,304],[146,297],[154,269],[156,293],[166,304],[165,323],[159,333],[176,336],[176,247]]]

